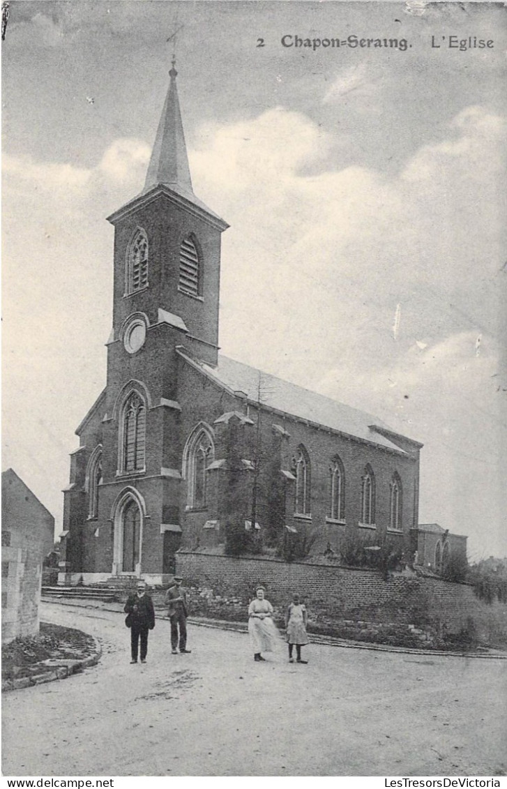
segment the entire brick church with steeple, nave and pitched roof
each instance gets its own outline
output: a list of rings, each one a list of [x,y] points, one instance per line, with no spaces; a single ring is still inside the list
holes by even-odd
[[[413,554],[422,444],[218,352],[228,225],[193,193],[174,62],[144,189],[108,221],[106,387],[76,428],[58,582],[165,584],[179,548],[228,529]]]

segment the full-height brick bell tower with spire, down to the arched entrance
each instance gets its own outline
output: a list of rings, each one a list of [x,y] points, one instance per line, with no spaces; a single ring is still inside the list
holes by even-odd
[[[144,554],[140,548],[136,561],[128,557],[130,565],[162,561],[157,529],[168,518],[177,523],[185,408],[177,348],[211,366],[218,361],[220,242],[228,225],[193,192],[174,62],[169,76],[144,189],[108,217],[114,225],[114,297],[102,423],[103,506],[115,523],[114,573],[127,561],[121,548],[125,518],[116,499],[106,503],[108,497],[130,486],[144,500],[145,514],[135,504]],[[150,558],[147,551],[155,553]]]

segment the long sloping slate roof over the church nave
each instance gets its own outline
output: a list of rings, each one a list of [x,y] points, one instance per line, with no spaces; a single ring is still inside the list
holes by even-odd
[[[191,365],[200,368],[212,380],[232,393],[246,394],[252,403],[258,402],[260,380],[260,400],[263,406],[407,454],[396,443],[375,431],[374,425],[386,430],[390,428],[371,414],[345,406],[341,402],[272,376],[270,373],[243,365],[222,354],[218,354],[218,367],[214,368],[188,357],[185,350],[180,350],[180,353]]]

